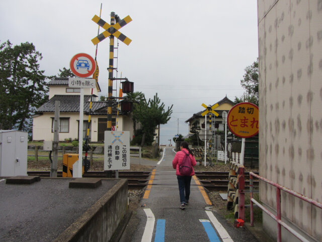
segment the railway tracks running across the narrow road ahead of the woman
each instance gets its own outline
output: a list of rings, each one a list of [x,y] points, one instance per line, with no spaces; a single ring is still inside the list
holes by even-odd
[[[222,171],[196,171],[196,176],[201,184],[208,190],[226,191],[228,188],[229,172]],[[255,172],[258,173],[258,172]],[[28,171],[28,175],[39,175],[44,177],[50,176],[50,171]],[[128,179],[128,187],[130,189],[142,189],[147,186],[150,171],[119,171],[119,178]],[[62,171],[57,171],[57,177],[62,177]],[[104,171],[88,171],[83,177],[102,177],[106,178]],[[115,178],[115,174],[112,174]],[[249,172],[245,172],[246,189],[249,189]],[[259,181],[254,180],[254,187],[259,186]]]

